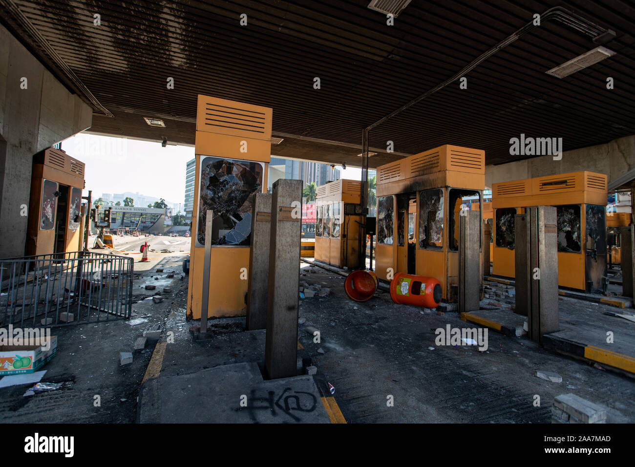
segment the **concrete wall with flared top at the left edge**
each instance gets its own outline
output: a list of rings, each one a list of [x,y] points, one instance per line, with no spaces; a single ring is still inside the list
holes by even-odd
[[[20,211],[29,206],[33,154],[89,128],[92,118],[91,107],[0,25],[0,258],[24,254]]]

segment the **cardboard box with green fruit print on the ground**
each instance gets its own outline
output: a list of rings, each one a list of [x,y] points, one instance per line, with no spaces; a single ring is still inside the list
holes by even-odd
[[[57,335],[49,339],[50,344],[44,337],[41,341],[30,339],[20,346],[0,346],[0,376],[32,373],[43,367],[57,354]],[[46,347],[48,350],[44,350]]]

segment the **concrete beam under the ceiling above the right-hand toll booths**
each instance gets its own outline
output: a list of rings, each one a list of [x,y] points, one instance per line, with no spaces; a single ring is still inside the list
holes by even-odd
[[[540,156],[524,161],[485,166],[485,186],[509,180],[531,179],[558,173],[589,172],[606,173],[608,183],[635,168],[635,135],[613,140],[599,146],[565,151],[562,159]]]

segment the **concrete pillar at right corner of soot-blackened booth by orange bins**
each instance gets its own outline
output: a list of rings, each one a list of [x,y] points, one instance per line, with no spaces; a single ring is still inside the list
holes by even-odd
[[[458,216],[458,312],[479,309],[481,213],[462,210]]]

